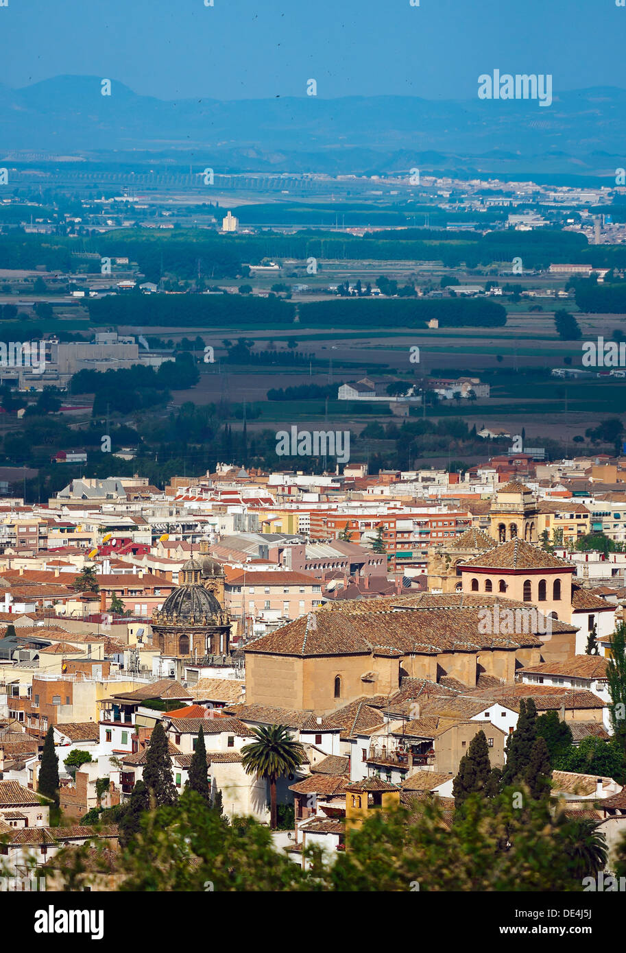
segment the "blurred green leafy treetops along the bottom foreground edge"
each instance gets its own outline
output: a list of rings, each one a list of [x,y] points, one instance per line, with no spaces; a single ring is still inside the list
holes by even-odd
[[[226,821],[188,790],[143,815],[115,868],[123,891],[552,892],[581,891],[582,877],[606,862],[595,825],[581,827],[525,788],[493,800],[471,795],[454,820],[435,801],[377,811],[348,840],[333,866],[318,850],[307,852],[303,871],[273,845],[267,827]],[[85,883],[86,851],[67,853],[66,889]],[[102,848],[103,870],[110,861]]]

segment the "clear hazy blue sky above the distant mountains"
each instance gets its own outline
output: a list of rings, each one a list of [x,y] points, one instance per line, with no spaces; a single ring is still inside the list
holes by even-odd
[[[9,0],[0,83],[106,76],[163,99],[475,97],[477,77],[550,72],[626,89],[615,0]]]

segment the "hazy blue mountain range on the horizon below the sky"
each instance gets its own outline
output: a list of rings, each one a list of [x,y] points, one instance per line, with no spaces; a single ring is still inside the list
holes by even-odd
[[[164,101],[111,79],[56,76],[0,85],[0,155],[7,152],[187,153],[208,164],[290,172],[392,172],[416,156],[502,171],[615,174],[626,166],[626,91],[533,100],[434,101],[314,96]],[[232,169],[232,171],[235,171]]]

